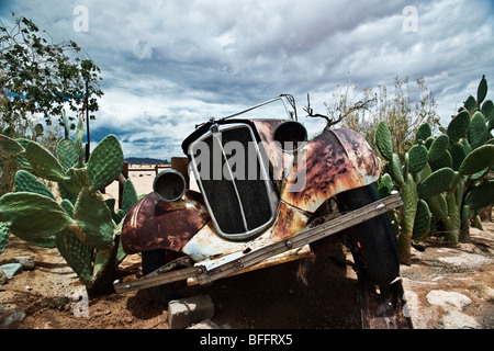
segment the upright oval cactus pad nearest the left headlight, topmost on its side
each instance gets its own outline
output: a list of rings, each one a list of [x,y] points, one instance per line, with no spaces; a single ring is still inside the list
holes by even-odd
[[[87,168],[91,189],[100,190],[113,182],[122,172],[123,151],[114,135],[106,136],[92,151]]]

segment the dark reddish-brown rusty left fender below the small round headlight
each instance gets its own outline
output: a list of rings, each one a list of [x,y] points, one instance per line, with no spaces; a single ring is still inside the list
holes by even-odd
[[[209,220],[202,195],[187,191],[176,202],[159,201],[150,193],[127,213],[122,245],[127,253],[154,249],[180,251]]]

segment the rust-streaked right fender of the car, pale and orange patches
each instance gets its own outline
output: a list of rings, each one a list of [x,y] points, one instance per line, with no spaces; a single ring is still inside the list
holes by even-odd
[[[375,182],[381,173],[372,149],[353,131],[325,132],[302,151],[305,152],[302,162],[297,162],[283,183],[281,199],[311,213],[343,191]],[[301,180],[305,181],[302,191],[292,191]]]

